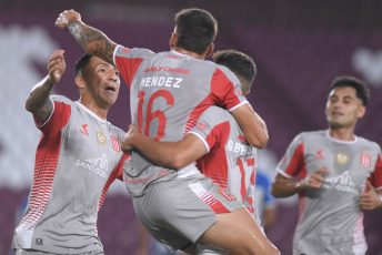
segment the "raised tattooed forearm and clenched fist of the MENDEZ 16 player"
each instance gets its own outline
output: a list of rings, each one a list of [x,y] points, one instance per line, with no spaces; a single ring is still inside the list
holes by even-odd
[[[83,23],[79,12],[74,10],[63,11],[57,18],[56,27],[69,31],[88,54],[97,55],[108,63],[114,64],[113,52],[117,43],[100,30]]]

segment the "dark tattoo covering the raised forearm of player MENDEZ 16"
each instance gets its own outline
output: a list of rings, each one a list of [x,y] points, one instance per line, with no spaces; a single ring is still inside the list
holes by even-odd
[[[69,23],[68,30],[86,52],[114,64],[113,52],[117,43],[111,41],[100,30],[89,27],[79,20]]]

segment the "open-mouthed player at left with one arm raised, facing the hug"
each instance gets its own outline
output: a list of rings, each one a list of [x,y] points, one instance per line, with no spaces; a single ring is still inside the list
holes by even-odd
[[[107,120],[120,88],[115,67],[84,54],[76,63],[80,99],[51,95],[66,70],[64,51],[54,51],[48,75],[30,92],[26,109],[42,136],[34,177],[12,247],[17,255],[103,254],[97,216],[110,184],[123,174],[124,132]]]

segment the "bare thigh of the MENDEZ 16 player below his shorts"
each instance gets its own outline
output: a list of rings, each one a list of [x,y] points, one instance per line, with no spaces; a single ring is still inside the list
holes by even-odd
[[[218,214],[218,222],[200,241],[224,248],[231,254],[280,254],[245,208]]]

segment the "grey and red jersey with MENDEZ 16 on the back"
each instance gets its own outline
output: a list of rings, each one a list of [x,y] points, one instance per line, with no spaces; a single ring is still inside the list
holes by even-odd
[[[153,53],[121,47],[114,54],[115,64],[130,86],[132,122],[151,139],[179,141],[208,106],[232,109],[245,102],[234,74],[211,61],[175,51]],[[124,171],[125,182],[138,187],[138,193],[144,184],[175,174],[173,170],[152,165],[135,152],[130,163],[133,167]],[[180,174],[189,171],[195,167]]]

